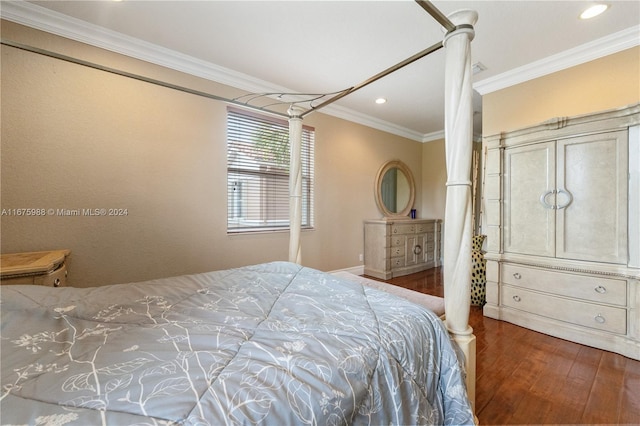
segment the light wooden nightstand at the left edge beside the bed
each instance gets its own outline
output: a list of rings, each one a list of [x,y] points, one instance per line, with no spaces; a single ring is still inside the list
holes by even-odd
[[[71,250],[0,255],[0,284],[67,285],[67,256]]]

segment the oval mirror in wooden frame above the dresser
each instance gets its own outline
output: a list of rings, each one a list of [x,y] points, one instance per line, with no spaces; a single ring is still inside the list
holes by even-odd
[[[408,216],[415,200],[411,170],[401,161],[382,165],[376,176],[376,204],[386,217]]]

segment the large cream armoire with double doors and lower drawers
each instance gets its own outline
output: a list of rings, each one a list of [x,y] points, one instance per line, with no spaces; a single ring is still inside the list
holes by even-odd
[[[640,105],[483,140],[484,315],[640,359]]]

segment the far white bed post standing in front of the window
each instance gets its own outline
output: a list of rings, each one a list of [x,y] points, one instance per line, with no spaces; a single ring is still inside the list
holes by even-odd
[[[289,262],[302,263],[300,228],[302,227],[302,109],[289,107]]]

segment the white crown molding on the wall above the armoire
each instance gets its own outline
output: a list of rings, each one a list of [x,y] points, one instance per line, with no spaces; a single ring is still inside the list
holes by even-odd
[[[612,55],[640,44],[640,25],[514,68],[473,84],[481,95],[524,83],[547,74],[562,71],[585,62]]]

